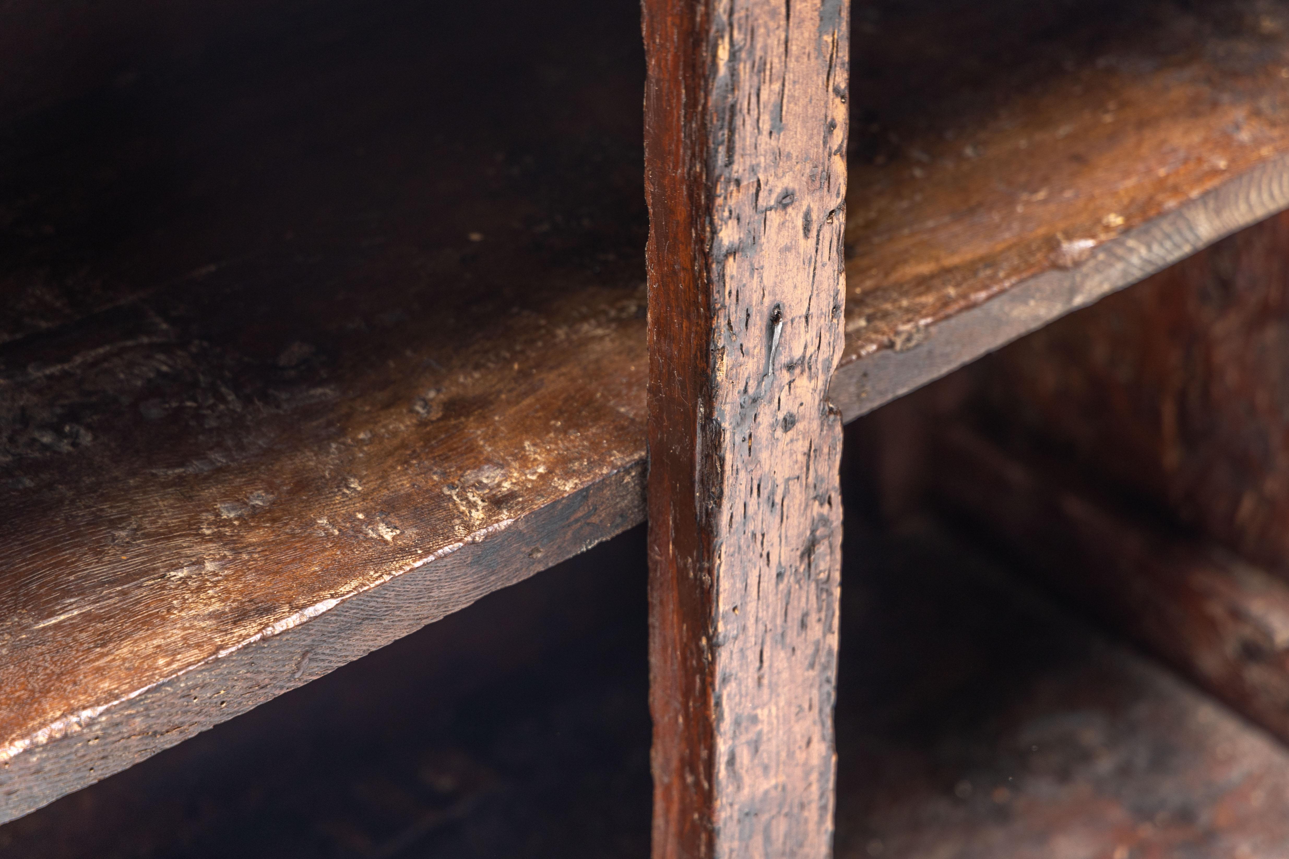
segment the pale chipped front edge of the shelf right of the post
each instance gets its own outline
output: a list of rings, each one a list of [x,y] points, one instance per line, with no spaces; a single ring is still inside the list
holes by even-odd
[[[833,403],[852,421],[1286,207],[1289,155],[1100,245],[1076,267],[1044,272],[926,326],[906,350],[843,363],[833,377]]]

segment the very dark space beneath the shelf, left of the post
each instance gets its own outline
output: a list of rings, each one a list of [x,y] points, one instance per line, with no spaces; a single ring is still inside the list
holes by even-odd
[[[0,826],[0,856],[647,859],[646,571],[633,528]]]

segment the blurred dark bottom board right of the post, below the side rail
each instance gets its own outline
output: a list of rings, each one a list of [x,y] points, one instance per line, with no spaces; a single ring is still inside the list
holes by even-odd
[[[846,546],[838,856],[1289,854],[1275,738],[933,523]]]

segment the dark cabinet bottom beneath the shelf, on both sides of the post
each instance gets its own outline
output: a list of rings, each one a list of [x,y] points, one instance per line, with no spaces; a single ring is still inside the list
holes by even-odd
[[[839,856],[1289,853],[1283,746],[978,546],[847,523]],[[0,856],[644,859],[644,540],[624,540],[0,827]]]

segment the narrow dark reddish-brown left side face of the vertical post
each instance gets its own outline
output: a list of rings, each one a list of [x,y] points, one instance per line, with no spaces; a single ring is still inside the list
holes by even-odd
[[[655,859],[713,856],[715,724],[706,645],[714,605],[699,520],[699,402],[710,372],[710,212],[703,111],[710,10],[643,3],[650,267],[650,711]],[[663,528],[666,528],[664,532]],[[704,563],[706,562],[706,563]],[[699,581],[700,572],[705,576]],[[691,631],[692,630],[692,631]],[[699,640],[695,640],[697,636]]]

